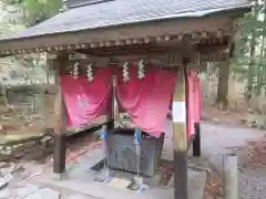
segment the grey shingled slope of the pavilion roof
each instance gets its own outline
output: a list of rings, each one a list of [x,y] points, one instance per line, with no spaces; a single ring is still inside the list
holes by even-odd
[[[75,32],[248,8],[248,0],[113,0],[70,9],[3,40]]]

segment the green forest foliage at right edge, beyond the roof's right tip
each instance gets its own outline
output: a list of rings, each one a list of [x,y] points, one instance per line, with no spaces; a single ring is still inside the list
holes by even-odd
[[[253,11],[236,23],[235,51],[232,71],[248,78],[249,96],[260,94],[266,86],[266,10],[255,4]],[[247,95],[248,96],[248,95]]]

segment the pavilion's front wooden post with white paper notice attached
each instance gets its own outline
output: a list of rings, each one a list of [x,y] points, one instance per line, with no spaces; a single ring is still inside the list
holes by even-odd
[[[178,71],[173,93],[174,198],[187,199],[185,70]]]

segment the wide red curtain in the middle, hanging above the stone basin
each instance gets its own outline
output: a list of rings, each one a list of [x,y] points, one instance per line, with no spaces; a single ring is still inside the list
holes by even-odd
[[[145,77],[137,78],[137,67],[130,66],[127,82],[122,70],[116,78],[116,98],[122,111],[142,130],[158,137],[164,132],[168,105],[174,90],[175,75],[158,67],[146,67]]]

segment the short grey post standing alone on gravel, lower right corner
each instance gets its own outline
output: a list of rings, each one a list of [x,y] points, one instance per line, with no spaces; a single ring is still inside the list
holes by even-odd
[[[224,164],[224,195],[225,199],[238,199],[238,168],[237,156],[226,154],[223,158]]]

